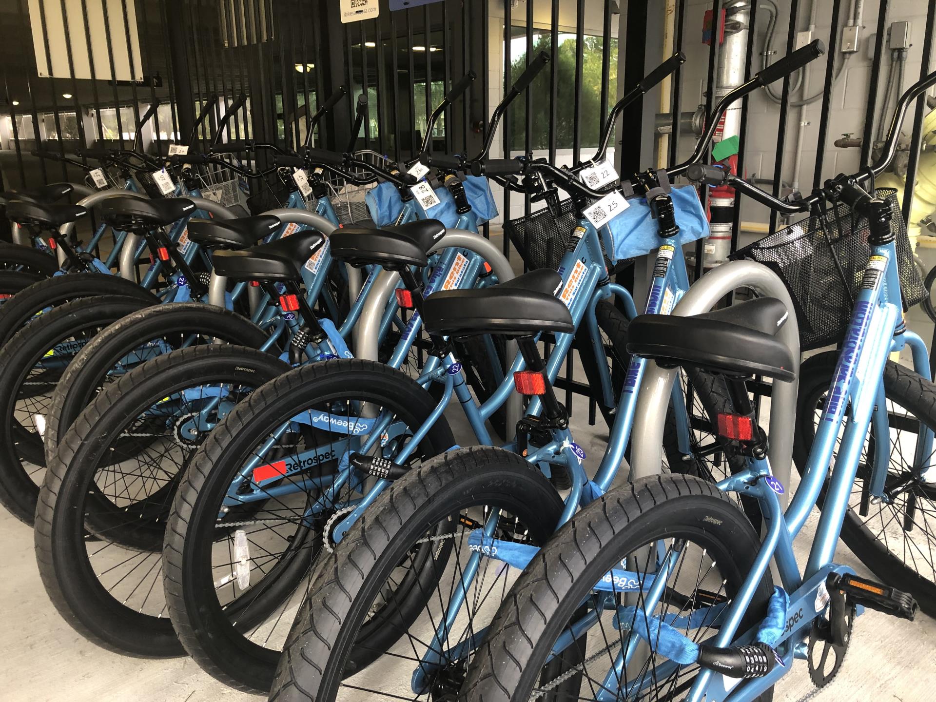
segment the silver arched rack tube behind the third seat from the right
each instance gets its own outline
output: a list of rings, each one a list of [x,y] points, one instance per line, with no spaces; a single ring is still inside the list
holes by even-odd
[[[514,270],[503,252],[490,240],[468,231],[467,229],[446,229],[446,235],[432,246],[430,253],[441,249],[468,249],[481,256],[490,264],[491,271],[500,283],[515,278]],[[373,287],[361,310],[358,326],[355,328],[355,349],[357,358],[377,359],[377,336],[380,320],[387,306],[387,300],[400,282],[400,273],[381,271],[373,282]],[[517,355],[517,342],[508,341],[505,348],[506,358]],[[522,400],[518,393],[512,392],[505,404],[507,441],[513,440],[513,431],[522,415]]]

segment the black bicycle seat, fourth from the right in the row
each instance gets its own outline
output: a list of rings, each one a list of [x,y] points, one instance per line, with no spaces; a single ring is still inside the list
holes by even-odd
[[[215,251],[212,264],[218,275],[226,275],[232,280],[299,281],[305,262],[325,241],[321,232],[303,229],[284,239],[249,249]]]

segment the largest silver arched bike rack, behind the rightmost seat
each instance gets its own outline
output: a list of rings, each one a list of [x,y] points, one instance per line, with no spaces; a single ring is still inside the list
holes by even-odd
[[[774,475],[788,486],[793,465],[793,429],[797,416],[797,388],[799,386],[799,325],[790,293],[780,277],[753,261],[729,261],[699,278],[682,296],[672,314],[689,316],[709,312],[719,300],[739,287],[748,287],[757,293],[781,300],[789,312],[786,323],[777,334],[790,349],[793,371],[797,379],[792,383],[773,384],[770,397],[769,461]],[[631,435],[630,480],[658,475],[663,464],[663,429],[666,407],[669,404],[673,380],[677,369],[660,368],[648,363],[640,383],[637,397],[634,431]],[[789,490],[779,495],[783,506]]]

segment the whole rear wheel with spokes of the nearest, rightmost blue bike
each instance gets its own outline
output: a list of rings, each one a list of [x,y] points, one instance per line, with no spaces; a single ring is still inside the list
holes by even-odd
[[[744,514],[699,478],[659,475],[612,490],[578,512],[534,556],[495,615],[458,699],[529,702],[551,695],[559,702],[592,700],[599,691],[641,702],[681,699],[698,666],[675,664],[642,639],[630,663],[620,674],[613,672],[618,654],[636,636],[635,620],[644,607],[640,592],[649,587],[645,578],[657,562],[675,559],[654,614],[703,612],[679,628],[704,641],[717,633],[718,615],[709,612],[738,592],[758,548],[760,539]],[[595,589],[622,564],[633,574],[634,587],[623,592],[616,578],[607,578],[610,590]],[[764,616],[770,593],[765,577],[739,631]],[[572,626],[589,612],[594,618],[589,636],[578,628],[573,634]],[[581,661],[575,689],[559,692],[568,676],[550,670],[554,648]],[[760,699],[771,696],[772,691]]]

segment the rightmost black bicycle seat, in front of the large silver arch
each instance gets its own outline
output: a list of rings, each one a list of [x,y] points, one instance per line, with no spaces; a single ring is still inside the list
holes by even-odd
[[[790,382],[796,378],[790,349],[774,338],[788,314],[774,298],[687,317],[638,314],[627,329],[627,351],[708,371]]]

